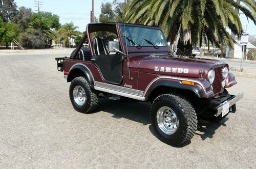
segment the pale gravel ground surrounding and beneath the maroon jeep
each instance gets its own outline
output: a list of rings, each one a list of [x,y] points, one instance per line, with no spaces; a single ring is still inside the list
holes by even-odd
[[[256,79],[228,89],[245,96],[223,125],[200,122],[174,148],[156,138],[148,103],[101,99],[93,114],[75,111],[62,56],[0,53],[0,168],[256,168]]]

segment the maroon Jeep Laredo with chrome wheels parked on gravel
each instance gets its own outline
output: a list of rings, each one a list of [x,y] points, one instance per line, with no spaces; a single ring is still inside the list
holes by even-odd
[[[81,47],[85,41],[89,48]],[[189,142],[198,118],[222,119],[243,97],[226,91],[237,83],[226,63],[173,56],[153,26],[90,23],[71,56],[56,61],[77,111],[95,110],[99,96],[152,102],[155,132],[172,146]]]

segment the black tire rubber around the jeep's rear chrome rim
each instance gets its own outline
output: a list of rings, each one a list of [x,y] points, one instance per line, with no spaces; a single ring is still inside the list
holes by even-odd
[[[78,105],[73,96],[73,91],[76,86],[80,86],[86,93],[86,101],[82,105]],[[82,113],[89,113],[95,110],[98,106],[98,94],[90,88],[90,85],[85,77],[76,77],[72,80],[69,88],[69,97],[75,110]]]

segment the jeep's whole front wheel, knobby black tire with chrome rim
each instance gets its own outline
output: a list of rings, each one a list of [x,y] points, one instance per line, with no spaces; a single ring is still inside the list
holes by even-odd
[[[163,94],[152,103],[151,121],[162,142],[171,146],[187,144],[197,130],[197,115],[183,96]]]

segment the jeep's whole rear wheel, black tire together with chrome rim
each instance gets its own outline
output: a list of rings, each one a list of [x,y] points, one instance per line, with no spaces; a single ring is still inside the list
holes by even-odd
[[[69,96],[75,110],[83,113],[93,111],[99,102],[96,91],[90,88],[84,77],[76,77],[72,80]]]

